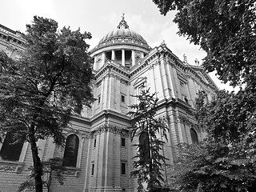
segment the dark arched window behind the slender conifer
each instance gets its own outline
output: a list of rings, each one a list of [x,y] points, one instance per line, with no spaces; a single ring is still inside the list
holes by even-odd
[[[140,162],[147,163],[150,161],[150,142],[149,142],[149,134],[146,132],[142,132],[142,134],[138,138],[139,142],[139,160]]]

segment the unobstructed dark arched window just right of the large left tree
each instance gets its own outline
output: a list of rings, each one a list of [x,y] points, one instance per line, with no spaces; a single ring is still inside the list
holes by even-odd
[[[75,134],[70,134],[66,138],[66,146],[63,157],[63,166],[73,166],[77,165],[78,159],[78,147],[79,147],[79,138]]]

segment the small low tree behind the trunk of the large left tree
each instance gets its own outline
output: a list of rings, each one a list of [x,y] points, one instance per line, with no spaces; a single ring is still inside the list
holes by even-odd
[[[42,185],[47,187],[48,192],[50,192],[53,177],[57,178],[61,185],[64,184],[65,178],[63,174],[65,174],[66,166],[62,164],[63,160],[61,158],[50,158],[48,161],[42,162]],[[30,170],[33,174],[25,182],[22,182],[18,188],[19,191],[26,190],[27,188],[34,189],[34,168],[30,167]]]

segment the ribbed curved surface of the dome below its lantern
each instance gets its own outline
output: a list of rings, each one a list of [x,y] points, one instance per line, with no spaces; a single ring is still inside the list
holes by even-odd
[[[147,45],[147,42],[144,38],[142,38],[142,35],[134,32],[133,30],[130,30],[129,28],[126,29],[115,29],[110,31],[108,34],[106,34],[99,42],[101,44],[102,42],[108,42],[114,39],[118,38],[127,38],[132,39],[137,42],[142,42],[143,44]]]

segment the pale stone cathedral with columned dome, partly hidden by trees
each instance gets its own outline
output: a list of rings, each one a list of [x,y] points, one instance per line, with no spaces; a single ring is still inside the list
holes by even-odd
[[[0,50],[18,58],[24,43],[18,31],[0,25]],[[162,154],[171,164],[175,145],[198,142],[206,137],[194,119],[195,98],[201,90],[209,102],[218,87],[198,62],[190,65],[185,56],[180,60],[165,42],[151,48],[140,34],[130,30],[124,17],[116,29],[90,50],[90,56],[94,58],[94,104],[83,109],[81,116],[71,118],[65,133],[65,147],[55,146],[52,138],[38,141],[42,161],[68,160],[64,185],[53,179],[50,190],[137,191],[137,181],[130,178],[130,172],[137,154],[133,145],[138,144],[139,139],[131,141],[127,113],[129,106],[138,101],[131,95],[148,88],[156,93],[157,118],[162,118],[169,129]],[[0,143],[0,191],[17,191],[30,175],[31,165],[30,145],[25,142],[10,146],[6,134]]]

